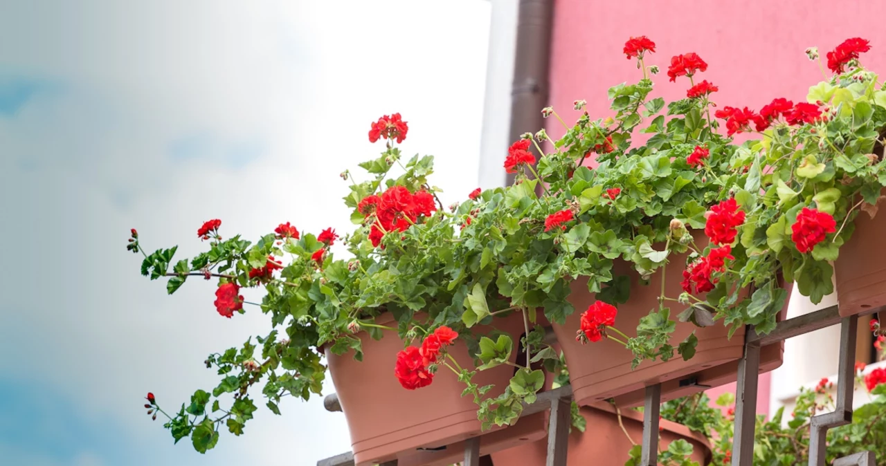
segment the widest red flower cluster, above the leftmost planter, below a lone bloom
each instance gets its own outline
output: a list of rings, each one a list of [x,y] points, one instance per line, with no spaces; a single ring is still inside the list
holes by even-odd
[[[364,197],[357,210],[365,218],[375,216],[369,229],[369,241],[372,241],[373,247],[377,247],[385,233],[394,230],[405,232],[409,225],[416,223],[419,215],[431,216],[437,210],[437,205],[431,193],[422,190],[412,194],[406,187],[397,185],[387,188],[380,196]]]

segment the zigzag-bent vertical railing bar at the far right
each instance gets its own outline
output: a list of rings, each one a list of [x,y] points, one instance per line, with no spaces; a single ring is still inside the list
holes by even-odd
[[[840,323],[840,361],[837,371],[836,409],[832,413],[812,416],[809,423],[809,465],[824,466],[827,454],[828,429],[852,422],[852,393],[855,392],[855,343],[858,340],[859,317],[843,317]]]

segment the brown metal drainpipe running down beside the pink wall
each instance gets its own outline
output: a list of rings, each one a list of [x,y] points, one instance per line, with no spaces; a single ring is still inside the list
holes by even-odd
[[[520,139],[520,134],[534,134],[544,127],[541,109],[548,106],[548,68],[553,23],[554,0],[520,0],[514,83],[510,92],[509,142]],[[507,184],[513,182],[514,173],[508,173]]]

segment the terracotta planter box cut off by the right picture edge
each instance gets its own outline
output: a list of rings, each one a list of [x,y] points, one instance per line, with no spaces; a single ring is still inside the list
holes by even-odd
[[[886,212],[880,212],[874,218],[861,212],[855,218],[855,232],[840,248],[840,256],[834,263],[834,274],[836,299],[843,317],[886,305],[886,248],[882,244],[884,228]]]

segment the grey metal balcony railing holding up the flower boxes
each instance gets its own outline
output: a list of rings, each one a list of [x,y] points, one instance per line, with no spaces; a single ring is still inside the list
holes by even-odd
[[[883,311],[886,306],[869,309],[861,316]],[[803,316],[780,322],[775,330],[758,335],[751,328],[745,334],[744,355],[738,364],[738,383],[735,388],[735,424],[732,466],[751,466],[754,455],[754,429],[757,421],[757,383],[760,365],[760,348],[787,340],[797,335],[840,325],[840,359],[837,371],[836,408],[833,412],[812,416],[810,424],[810,466],[825,466],[828,430],[852,422],[852,394],[855,371],[855,349],[860,316],[840,317],[838,306],[820,309]],[[522,416],[529,416],[550,409],[548,422],[548,466],[566,466],[567,439],[571,424],[570,406],[572,389],[563,386],[539,393],[538,399],[525,405]],[[335,393],[324,400],[326,409],[340,411]],[[643,409],[642,466],[658,464],[658,418],[661,405],[661,386],[647,386]],[[480,438],[465,443],[462,466],[479,466]],[[882,452],[881,452],[882,454]],[[874,452],[864,451],[844,456],[834,461],[834,466],[875,466]],[[317,462],[317,466],[354,466],[354,455],[345,453]],[[380,466],[397,466],[397,461]]]

